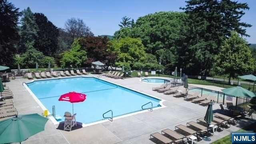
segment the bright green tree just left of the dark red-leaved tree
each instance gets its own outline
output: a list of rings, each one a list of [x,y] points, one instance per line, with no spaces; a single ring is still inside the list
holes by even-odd
[[[75,39],[70,51],[62,53],[60,60],[62,68],[78,68],[84,66],[87,56],[86,51],[82,50],[79,39]]]

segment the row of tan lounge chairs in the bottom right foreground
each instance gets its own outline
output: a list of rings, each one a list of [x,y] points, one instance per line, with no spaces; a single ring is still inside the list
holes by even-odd
[[[224,130],[225,128],[230,127],[230,123],[237,124],[237,120],[229,116],[214,113],[213,122],[211,125],[216,126],[219,131]],[[204,118],[198,118],[196,122],[191,121],[187,122],[185,125],[175,126],[175,130],[165,129],[154,134],[150,134],[150,139],[155,139],[156,142],[162,142],[164,144],[176,144],[179,142],[188,143],[191,136],[195,136],[197,141],[202,140],[204,136],[209,136],[214,134],[214,129],[208,127],[208,124]]]

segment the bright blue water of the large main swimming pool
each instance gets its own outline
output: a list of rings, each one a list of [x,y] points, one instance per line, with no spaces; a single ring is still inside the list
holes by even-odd
[[[148,102],[152,102],[153,107],[160,106],[160,100],[156,98],[97,78],[39,80],[27,85],[50,112],[55,106],[56,115],[59,116],[63,116],[64,112],[72,113],[72,104],[58,101],[60,95],[73,91],[86,94],[84,102],[74,103],[76,120],[84,124],[103,120],[102,114],[108,110],[113,111],[113,116],[120,116],[142,110],[141,106]],[[145,106],[149,107],[150,104]]]

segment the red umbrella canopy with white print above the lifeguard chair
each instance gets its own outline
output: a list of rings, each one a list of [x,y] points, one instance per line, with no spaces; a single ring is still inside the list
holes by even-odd
[[[69,92],[61,95],[59,98],[59,101],[68,101],[71,103],[83,102],[84,100],[86,100],[86,95],[77,92]]]

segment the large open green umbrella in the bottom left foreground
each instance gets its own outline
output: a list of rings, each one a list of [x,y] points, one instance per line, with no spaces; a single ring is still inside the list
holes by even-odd
[[[28,114],[0,121],[0,144],[22,142],[44,131],[47,120],[39,114]]]

